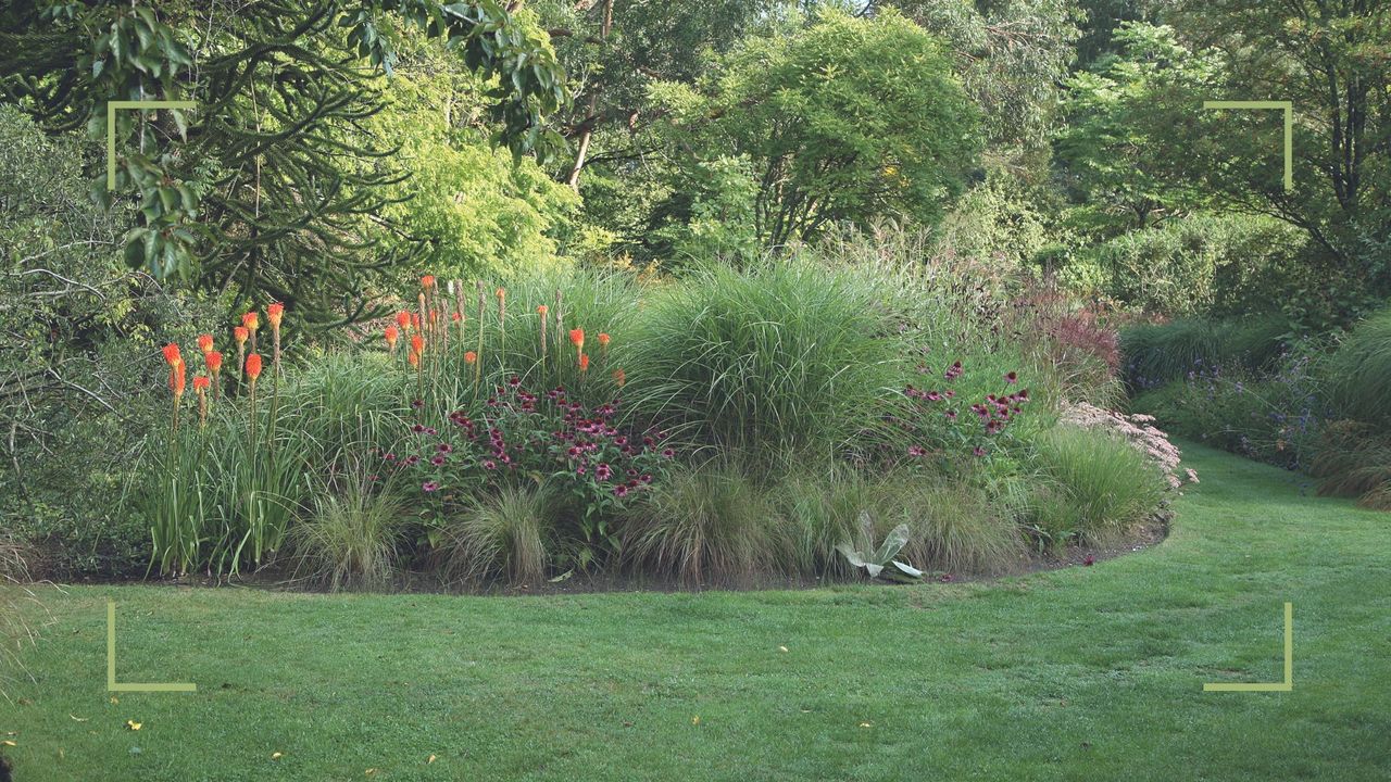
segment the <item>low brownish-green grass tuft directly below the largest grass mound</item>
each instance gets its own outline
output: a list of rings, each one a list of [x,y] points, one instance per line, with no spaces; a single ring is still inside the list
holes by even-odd
[[[625,518],[623,550],[634,564],[689,586],[740,583],[785,572],[776,502],[746,465],[707,462],[654,488]]]

